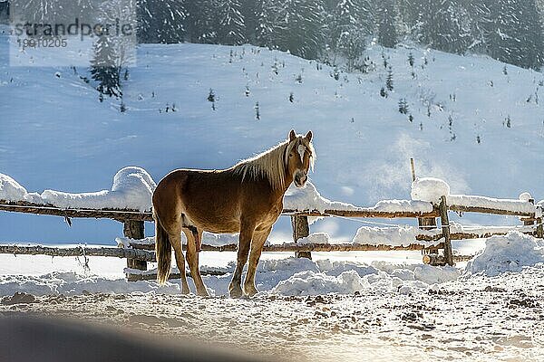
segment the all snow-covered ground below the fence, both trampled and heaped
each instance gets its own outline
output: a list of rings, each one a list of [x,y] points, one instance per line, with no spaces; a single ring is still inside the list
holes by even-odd
[[[112,322],[152,333],[168,330],[183,338],[189,333],[270,356],[279,356],[277,346],[283,346],[287,349],[280,355],[302,353],[301,360],[371,356],[384,362],[537,362],[544,352],[543,250],[542,241],[509,233],[489,238],[466,268],[277,260],[277,255],[264,254],[256,276],[261,292],[251,300],[186,297],[180,295],[178,281],[159,287],[154,281],[99,276],[83,267],[42,275],[14,272],[0,276],[0,313]],[[29,257],[0,255],[0,270],[9,266],[8,256],[11,263]],[[206,259],[207,253],[202,256]],[[62,259],[52,258],[52,266]],[[219,269],[233,267],[230,262]],[[206,276],[204,282],[219,296],[227,294],[230,277]],[[192,288],[190,279],[189,284]]]

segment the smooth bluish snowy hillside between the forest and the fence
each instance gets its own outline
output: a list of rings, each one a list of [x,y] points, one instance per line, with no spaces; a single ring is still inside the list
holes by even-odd
[[[544,75],[487,57],[375,46],[362,74],[250,45],[142,45],[121,113],[120,100],[100,103],[82,80],[88,70],[10,67],[7,48],[3,35],[0,173],[29,191],[109,188],[125,166],[145,168],[156,182],[176,167],[229,167],[295,128],[314,131],[311,178],[333,200],[409,197],[410,157],[419,176],[443,178],[452,193],[544,197]],[[386,98],[384,61],[393,75]],[[464,224],[478,221],[469,217]],[[358,226],[325,220],[312,231],[351,239]],[[4,242],[108,243],[121,234],[108,221],[68,228],[61,218],[20,214],[2,214],[0,230]],[[289,235],[286,219],[272,238]]]

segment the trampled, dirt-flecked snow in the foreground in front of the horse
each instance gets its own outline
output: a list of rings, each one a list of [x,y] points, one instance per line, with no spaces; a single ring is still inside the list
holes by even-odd
[[[402,269],[395,275],[412,279],[418,272]],[[350,280],[353,270],[330,273],[323,287],[335,290],[335,275],[343,275],[344,285],[357,281]],[[367,288],[350,295],[260,293],[251,300],[155,292],[17,294],[0,299],[0,313],[70,317],[155,337],[197,338],[270,360],[539,362],[544,353],[543,278],[544,268],[537,266],[493,278],[477,275],[431,288],[416,286],[405,293],[403,287],[400,292]]]

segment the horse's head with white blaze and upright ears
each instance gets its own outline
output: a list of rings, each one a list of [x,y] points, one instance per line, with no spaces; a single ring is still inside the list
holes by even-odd
[[[296,187],[304,187],[308,180],[308,169],[314,168],[316,152],[312,145],[312,131],[306,136],[296,135],[295,129],[289,132],[289,142],[286,149],[287,173],[293,177]]]

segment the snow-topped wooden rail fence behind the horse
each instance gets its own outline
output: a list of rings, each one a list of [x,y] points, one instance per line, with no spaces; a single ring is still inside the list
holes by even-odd
[[[513,201],[513,200],[512,200]],[[534,201],[529,200],[529,203],[534,204]],[[442,196],[439,205],[433,205],[430,212],[385,212],[377,211],[374,207],[359,208],[357,210],[325,210],[318,212],[315,210],[296,211],[283,210],[283,215],[291,218],[293,228],[293,241],[283,244],[266,245],[263,252],[295,252],[297,257],[311,258],[311,252],[360,252],[360,251],[422,251],[423,262],[432,265],[453,265],[456,261],[466,260],[465,257],[454,255],[452,252],[452,240],[475,239],[481,237],[489,237],[495,234],[508,233],[508,228],[498,230],[496,227],[491,227],[489,230],[485,228],[479,229],[477,232],[458,231],[452,232],[452,225],[449,221],[449,212],[456,213],[482,213],[482,214],[498,214],[519,216],[523,222],[523,228],[520,229],[523,233],[543,238],[544,231],[542,228],[542,218],[540,206],[535,206],[532,212],[520,212],[509,210],[509,208],[490,208],[481,207],[478,205],[447,205],[446,196]],[[54,205],[36,205],[27,202],[6,202],[0,200],[0,210],[6,212],[16,212],[24,214],[46,214],[63,216],[68,224],[71,224],[70,219],[74,217],[86,218],[107,218],[116,220],[123,224],[123,234],[131,239],[140,240],[144,238],[144,222],[152,221],[151,212],[140,212],[136,210],[114,210],[114,209],[66,209],[56,207]],[[421,233],[415,235],[415,243],[408,245],[385,245],[371,243],[296,243],[299,239],[306,237],[310,233],[308,224],[309,216],[323,217],[349,217],[349,218],[382,218],[382,219],[397,219],[397,218],[412,218],[417,219]],[[437,219],[440,219],[440,226],[437,226]],[[422,243],[417,243],[422,242]],[[428,242],[434,242],[432,246],[427,246]],[[0,245],[0,253],[15,253],[15,254],[46,254],[46,255],[87,255],[87,256],[112,256],[127,259],[127,267],[129,270],[147,270],[147,262],[154,262],[155,255],[152,250],[154,245],[142,244],[136,241],[130,243],[128,248],[50,248],[44,246],[18,246],[18,245]],[[224,246],[202,245],[203,251],[215,252],[234,252],[237,250],[236,244]],[[153,274],[146,273],[145,276],[140,273],[128,274],[129,280],[152,279]]]

